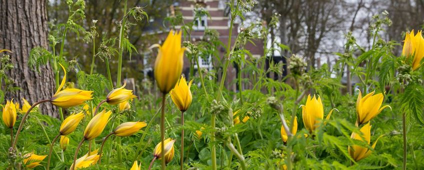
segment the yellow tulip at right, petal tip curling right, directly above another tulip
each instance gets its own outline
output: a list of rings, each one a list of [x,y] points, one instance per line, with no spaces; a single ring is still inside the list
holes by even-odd
[[[378,93],[374,94],[375,91],[372,91],[362,97],[362,94],[359,90],[359,95],[356,100],[356,115],[358,125],[368,122],[370,119],[374,118],[378,113],[381,112],[385,107],[391,107],[389,105],[384,105],[380,108],[383,102],[383,94]]]

